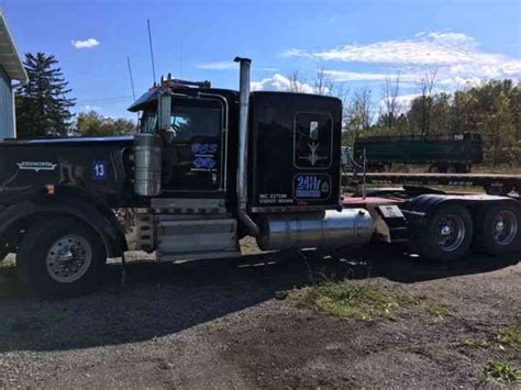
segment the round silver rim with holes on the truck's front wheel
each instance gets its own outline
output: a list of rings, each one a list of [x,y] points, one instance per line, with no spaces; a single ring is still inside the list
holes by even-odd
[[[92,261],[92,248],[79,235],[58,238],[47,252],[48,276],[59,283],[71,283],[87,274]]]

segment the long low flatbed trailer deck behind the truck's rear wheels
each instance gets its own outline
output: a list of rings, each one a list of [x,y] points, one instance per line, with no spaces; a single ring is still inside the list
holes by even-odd
[[[363,174],[346,172],[342,177],[343,186],[357,187],[363,181]],[[489,194],[506,196],[512,191],[519,192],[521,189],[521,175],[367,172],[365,175],[365,182],[378,186],[481,187]]]

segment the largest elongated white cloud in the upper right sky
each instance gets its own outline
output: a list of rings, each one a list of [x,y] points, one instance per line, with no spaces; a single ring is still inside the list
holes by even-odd
[[[317,52],[291,48],[282,53],[282,56],[414,68],[418,71],[428,67],[435,68],[442,83],[521,78],[521,59],[483,52],[474,37],[454,32],[421,32],[407,40],[348,44]],[[344,78],[350,77],[347,75]]]

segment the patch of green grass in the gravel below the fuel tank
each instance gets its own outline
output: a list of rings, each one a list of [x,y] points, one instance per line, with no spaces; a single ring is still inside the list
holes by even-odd
[[[328,281],[296,290],[291,292],[291,298],[299,307],[312,308],[340,319],[363,321],[389,316],[399,309],[415,305],[421,301],[408,294],[351,281]]]

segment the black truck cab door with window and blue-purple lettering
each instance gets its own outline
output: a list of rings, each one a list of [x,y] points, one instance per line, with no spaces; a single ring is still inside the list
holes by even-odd
[[[198,197],[223,190],[223,118],[217,100],[173,100],[174,136],[164,149],[164,192]]]

